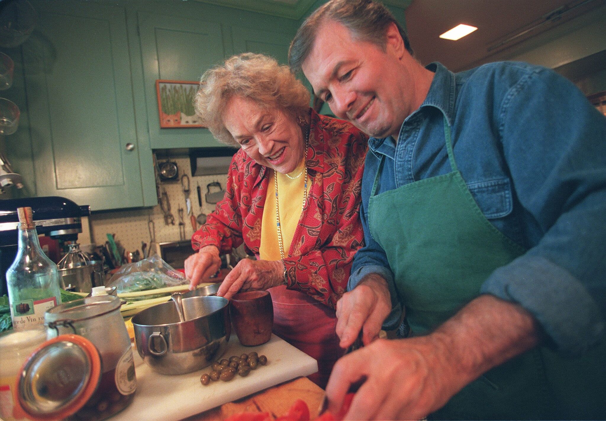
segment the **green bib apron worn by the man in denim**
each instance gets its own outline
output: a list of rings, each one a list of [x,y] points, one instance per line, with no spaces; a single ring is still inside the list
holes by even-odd
[[[376,194],[368,228],[385,250],[415,335],[427,334],[478,297],[482,283],[524,248],[486,219],[458,171],[444,119],[452,171]],[[493,368],[431,419],[606,419],[606,347],[564,359],[540,346]]]

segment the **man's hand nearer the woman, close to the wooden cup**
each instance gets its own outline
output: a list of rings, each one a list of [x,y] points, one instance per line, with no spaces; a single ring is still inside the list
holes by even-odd
[[[391,297],[387,281],[376,273],[365,276],[353,290],[337,302],[336,333],[339,346],[347,348],[362,330],[364,345],[379,337],[381,326],[391,312]]]

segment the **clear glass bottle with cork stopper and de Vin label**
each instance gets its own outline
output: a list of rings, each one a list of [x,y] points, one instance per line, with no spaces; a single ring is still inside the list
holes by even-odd
[[[15,330],[44,324],[44,313],[61,304],[57,265],[38,241],[32,208],[18,208],[19,250],[6,271],[8,302]]]

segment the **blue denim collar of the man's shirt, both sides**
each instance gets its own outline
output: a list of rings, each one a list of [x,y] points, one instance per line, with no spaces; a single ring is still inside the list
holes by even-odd
[[[421,104],[421,107],[411,113],[410,116],[404,120],[402,126],[406,124],[411,116],[418,113],[423,107],[438,108],[446,117],[448,124],[452,125],[454,120],[454,101],[456,99],[454,73],[439,62],[430,63],[425,66],[425,68],[435,73],[433,81],[431,81],[429,91],[425,97],[425,101]],[[393,157],[396,150],[396,142],[392,136],[382,139],[370,138],[368,139],[368,147],[378,158],[380,158],[379,154]]]

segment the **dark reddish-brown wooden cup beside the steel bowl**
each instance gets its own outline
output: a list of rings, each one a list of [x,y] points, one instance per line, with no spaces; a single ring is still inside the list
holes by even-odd
[[[261,345],[271,338],[273,303],[268,291],[247,291],[231,297],[233,328],[244,346]]]

